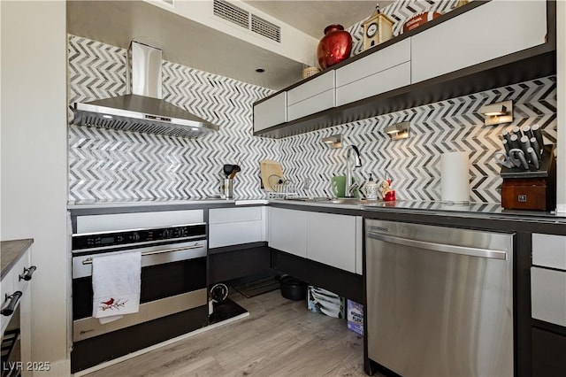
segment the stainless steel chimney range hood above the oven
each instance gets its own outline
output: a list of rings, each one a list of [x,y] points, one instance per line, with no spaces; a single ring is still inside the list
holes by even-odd
[[[218,130],[218,126],[207,120],[161,99],[160,49],[133,41],[128,60],[132,62],[128,70],[132,94],[75,103],[73,124],[182,137]]]

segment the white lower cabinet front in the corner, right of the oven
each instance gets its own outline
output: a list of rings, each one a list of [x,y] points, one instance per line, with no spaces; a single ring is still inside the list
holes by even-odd
[[[209,248],[264,242],[267,207],[215,208],[209,210]]]

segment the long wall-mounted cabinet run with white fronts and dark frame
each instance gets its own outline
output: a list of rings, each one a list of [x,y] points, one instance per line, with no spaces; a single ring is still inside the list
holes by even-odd
[[[298,135],[555,74],[555,6],[552,1],[465,4],[256,102],[254,135]],[[279,102],[273,116],[265,112],[266,102],[286,93],[287,106]],[[302,100],[292,102],[289,96],[295,94]],[[285,110],[287,120],[277,123]],[[267,124],[262,119],[272,126],[258,127]]]

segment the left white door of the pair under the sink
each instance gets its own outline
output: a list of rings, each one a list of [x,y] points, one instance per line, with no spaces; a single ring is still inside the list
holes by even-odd
[[[307,212],[270,207],[269,246],[307,258]]]

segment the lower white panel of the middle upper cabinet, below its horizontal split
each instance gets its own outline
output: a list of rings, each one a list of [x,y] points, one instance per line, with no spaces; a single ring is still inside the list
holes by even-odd
[[[354,81],[336,88],[336,105],[349,104],[386,91],[410,84],[410,62],[395,65],[385,71],[372,74],[363,81]]]

